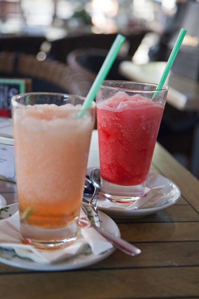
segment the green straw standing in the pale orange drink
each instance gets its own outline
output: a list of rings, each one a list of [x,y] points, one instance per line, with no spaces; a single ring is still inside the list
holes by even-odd
[[[88,95],[86,96],[86,99],[84,100],[84,104],[82,105],[82,109],[78,114],[78,118],[82,117],[85,113],[85,110],[90,108],[91,103],[95,99],[100,85],[102,84],[102,82],[106,78],[106,75],[110,71],[113,62],[115,62],[115,58],[117,57],[117,54],[119,53],[120,48],[124,43],[125,39],[126,37],[124,37],[123,35],[117,35],[115,42],[113,42],[113,45],[111,46],[111,49],[108,52],[108,55],[106,56],[106,59],[104,60],[104,63],[102,64],[102,67],[99,70],[99,73],[97,74],[97,77],[95,78],[95,81],[93,82],[93,85],[90,91],[88,92]]]

